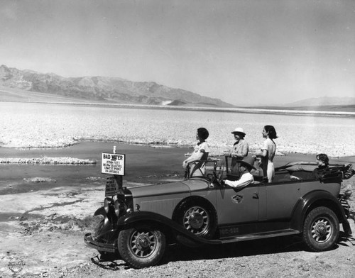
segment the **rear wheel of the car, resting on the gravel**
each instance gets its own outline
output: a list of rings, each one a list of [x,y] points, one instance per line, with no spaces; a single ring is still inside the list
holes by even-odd
[[[329,250],[338,238],[339,220],[331,209],[320,206],[308,213],[303,225],[303,240],[310,250]]]

